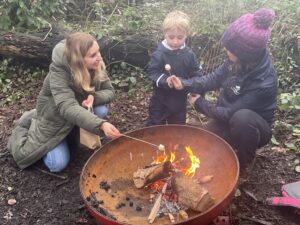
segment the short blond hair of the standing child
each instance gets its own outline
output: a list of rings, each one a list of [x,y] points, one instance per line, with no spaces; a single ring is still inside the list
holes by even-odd
[[[163,33],[166,33],[174,28],[184,31],[186,32],[186,34],[188,34],[190,29],[189,16],[179,10],[174,10],[168,13],[168,15],[162,23]]]

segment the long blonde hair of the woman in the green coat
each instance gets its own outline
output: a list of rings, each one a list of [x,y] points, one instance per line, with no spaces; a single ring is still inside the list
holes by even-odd
[[[106,78],[105,64],[101,61],[101,66],[94,71],[91,76],[85,66],[84,57],[88,50],[97,40],[87,33],[73,33],[67,38],[64,54],[72,70],[75,86],[86,92],[94,92],[96,81]]]

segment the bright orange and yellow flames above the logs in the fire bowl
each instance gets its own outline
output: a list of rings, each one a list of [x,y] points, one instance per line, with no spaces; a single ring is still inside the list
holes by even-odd
[[[182,155],[182,152],[178,152],[180,154],[177,155],[175,154],[175,151],[170,152],[169,154],[164,151],[164,153],[159,155],[154,162],[156,164],[159,164],[169,160],[176,170],[182,171],[186,176],[193,177],[196,173],[196,170],[200,166],[200,160],[197,156],[194,155],[190,146],[185,146],[185,151],[188,154],[188,159],[186,159],[186,157],[178,157],[178,155]],[[189,160],[190,162],[187,162],[187,160]]]

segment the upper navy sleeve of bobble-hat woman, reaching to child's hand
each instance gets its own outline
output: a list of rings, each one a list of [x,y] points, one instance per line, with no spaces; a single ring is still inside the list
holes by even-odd
[[[188,92],[203,94],[221,87],[222,82],[231,71],[231,63],[226,60],[214,72],[205,76],[194,76],[189,79],[182,79],[181,82]]]

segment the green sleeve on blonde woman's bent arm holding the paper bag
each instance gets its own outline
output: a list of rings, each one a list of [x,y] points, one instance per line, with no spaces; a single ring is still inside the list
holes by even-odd
[[[115,91],[108,77],[104,81],[97,83],[94,94],[94,105],[110,103],[114,97]]]

